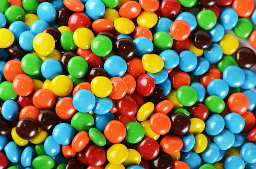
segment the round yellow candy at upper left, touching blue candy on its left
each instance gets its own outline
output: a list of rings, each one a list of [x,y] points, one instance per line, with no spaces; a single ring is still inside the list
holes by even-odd
[[[33,39],[33,48],[41,56],[47,56],[55,48],[55,40],[49,33],[38,33]]]

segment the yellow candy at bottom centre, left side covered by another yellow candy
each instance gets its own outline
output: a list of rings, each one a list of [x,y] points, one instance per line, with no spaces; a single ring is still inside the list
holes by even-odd
[[[138,165],[141,161],[141,155],[140,153],[135,149],[128,149],[128,157],[123,162],[124,166],[130,166],[130,165]]]

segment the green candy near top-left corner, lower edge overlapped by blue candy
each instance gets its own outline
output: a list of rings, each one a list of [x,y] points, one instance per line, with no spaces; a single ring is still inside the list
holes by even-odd
[[[7,19],[8,24],[12,24],[15,21],[21,20],[23,21],[25,19],[25,11],[20,6],[10,6],[5,11],[5,16]]]

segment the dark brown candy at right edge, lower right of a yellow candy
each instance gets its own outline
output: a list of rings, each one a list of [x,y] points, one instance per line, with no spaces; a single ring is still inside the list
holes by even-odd
[[[255,64],[255,53],[249,47],[240,47],[236,51],[235,59],[240,67],[250,68]]]

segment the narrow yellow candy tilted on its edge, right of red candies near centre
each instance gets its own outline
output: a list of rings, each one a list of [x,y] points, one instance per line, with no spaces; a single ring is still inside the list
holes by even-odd
[[[146,102],[143,104],[138,112],[137,112],[137,120],[144,121],[150,117],[150,115],[154,112],[155,105],[153,102]]]

